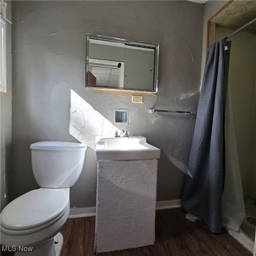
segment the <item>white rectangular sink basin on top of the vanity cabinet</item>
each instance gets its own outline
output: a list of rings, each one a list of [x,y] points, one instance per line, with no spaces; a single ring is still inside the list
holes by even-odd
[[[95,156],[97,161],[129,161],[157,159],[160,149],[147,143],[145,137],[96,136]]]

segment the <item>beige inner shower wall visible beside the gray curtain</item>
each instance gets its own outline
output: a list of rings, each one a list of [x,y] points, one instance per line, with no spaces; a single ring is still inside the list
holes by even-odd
[[[216,40],[231,34],[234,30],[216,27]],[[255,90],[256,90],[256,36],[239,32],[230,38],[230,64],[228,85],[230,86],[236,145],[244,197],[248,196],[250,166],[254,163],[252,157],[252,138],[255,140],[254,125]],[[255,148],[255,144],[254,144]],[[254,174],[254,175],[253,175]],[[255,181],[256,170],[251,170],[251,179]],[[251,186],[255,189],[255,183]]]

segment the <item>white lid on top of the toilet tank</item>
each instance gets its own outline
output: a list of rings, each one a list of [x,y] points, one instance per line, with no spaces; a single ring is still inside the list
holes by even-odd
[[[58,150],[58,151],[85,151],[86,144],[64,141],[40,141],[30,145],[31,149]]]

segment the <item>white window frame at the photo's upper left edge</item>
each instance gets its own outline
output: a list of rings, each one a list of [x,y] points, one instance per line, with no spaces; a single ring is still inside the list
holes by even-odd
[[[0,1],[0,92],[6,92],[6,6],[4,1]]]

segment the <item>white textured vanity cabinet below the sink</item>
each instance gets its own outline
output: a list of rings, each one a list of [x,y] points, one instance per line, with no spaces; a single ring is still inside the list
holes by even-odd
[[[95,252],[154,244],[157,164],[98,161]]]

